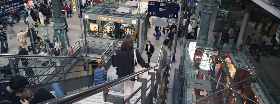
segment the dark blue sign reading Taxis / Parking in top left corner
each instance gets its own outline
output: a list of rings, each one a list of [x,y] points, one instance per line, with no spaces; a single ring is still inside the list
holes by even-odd
[[[11,0],[0,4],[0,18],[24,10],[23,0]]]

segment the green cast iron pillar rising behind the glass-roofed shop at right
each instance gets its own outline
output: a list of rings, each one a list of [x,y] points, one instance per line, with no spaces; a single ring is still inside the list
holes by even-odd
[[[209,25],[214,8],[214,0],[205,0],[201,16],[201,25],[199,35],[197,37],[197,46],[206,46],[208,39]]]

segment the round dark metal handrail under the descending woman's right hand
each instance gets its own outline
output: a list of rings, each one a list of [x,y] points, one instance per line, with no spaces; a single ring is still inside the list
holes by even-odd
[[[159,51],[159,57],[160,57],[160,53],[162,53],[162,47],[160,48],[160,51]],[[173,53],[172,53],[173,54]],[[159,63],[159,58],[157,60],[157,64],[156,66],[153,66],[154,68],[158,66],[158,63]],[[126,80],[129,80],[131,78],[134,78],[142,73],[145,73],[147,71],[151,70],[151,68],[146,68],[142,71],[139,71],[139,72],[136,72],[136,73],[132,73],[130,75],[127,75],[125,77],[122,77],[122,78],[118,78],[116,80],[111,80],[109,82],[106,82],[106,83],[102,83],[100,85],[96,85],[96,86],[93,86],[91,88],[88,88],[88,89],[84,89],[82,91],[79,91],[77,93],[73,93],[73,94],[70,94],[70,95],[64,95],[64,96],[61,96],[61,97],[58,97],[58,98],[55,98],[55,99],[51,99],[51,100],[47,100],[47,101],[44,101],[44,102],[41,102],[40,104],[70,104],[70,103],[74,103],[74,102],[77,102],[81,99],[84,99],[84,98],[87,98],[91,95],[94,95],[94,94],[97,94],[97,93],[100,93],[101,91],[104,91],[108,88],[111,88],[113,87],[114,85],[117,85],[119,83],[123,83],[124,81]]]

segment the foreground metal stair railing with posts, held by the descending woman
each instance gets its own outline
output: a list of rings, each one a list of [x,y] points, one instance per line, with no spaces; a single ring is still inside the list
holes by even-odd
[[[172,56],[173,53],[171,53]],[[61,96],[59,98],[55,98],[55,99],[51,99],[51,100],[47,100],[44,101],[42,103],[53,103],[53,104],[68,104],[68,103],[74,103],[77,102],[79,100],[82,100],[84,98],[87,98],[91,95],[100,93],[106,89],[109,89],[111,87],[113,87],[114,85],[117,85],[119,83],[123,83],[126,80],[129,80],[131,78],[134,78],[142,73],[148,72],[149,71],[149,75],[151,75],[151,78],[149,80],[147,80],[147,78],[139,78],[137,77],[137,81],[141,81],[142,85],[141,87],[139,87],[136,91],[134,91],[127,99],[124,100],[123,96],[118,96],[118,95],[111,95],[111,94],[105,94],[103,93],[103,97],[104,97],[104,102],[111,102],[111,103],[126,103],[128,102],[132,96],[134,96],[140,89],[141,89],[141,96],[136,100],[136,103],[141,99],[141,104],[147,104],[147,103],[153,103],[153,98],[154,97],[158,97],[159,94],[157,94],[157,90],[158,90],[158,85],[162,82],[160,81],[160,79],[162,79],[161,77],[161,73],[162,73],[162,69],[164,67],[166,67],[167,64],[167,51],[165,51],[165,49],[161,46],[160,48],[160,52],[159,52],[159,57],[157,60],[157,64],[155,67],[158,67],[159,63],[159,69],[154,69],[156,71],[156,73],[154,72],[150,72],[151,68],[146,68],[142,71],[136,72],[136,73],[132,73],[128,76],[125,76],[123,78],[118,78],[116,80],[111,80],[109,82],[106,83],[102,83],[100,85],[96,85],[93,86],[91,88],[88,89],[84,89],[81,90],[77,93],[73,93],[73,94],[69,94],[69,95],[64,95]],[[162,59],[161,59],[162,58]],[[169,57],[170,59],[170,64],[171,64],[171,57]],[[169,68],[170,70],[170,68]],[[156,78],[155,78],[156,76]],[[147,88],[147,82],[151,81],[151,85],[148,86]],[[150,88],[150,92],[148,93],[148,97],[146,96],[146,91]],[[159,97],[158,97],[159,98]]]

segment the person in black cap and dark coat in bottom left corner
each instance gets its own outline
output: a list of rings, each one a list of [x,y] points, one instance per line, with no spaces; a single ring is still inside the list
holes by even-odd
[[[20,104],[19,96],[12,95],[14,91],[21,90],[28,84],[24,76],[15,76],[10,82],[3,82],[0,84],[0,103],[1,104]],[[26,100],[25,103],[28,101]],[[23,103],[23,102],[22,102]]]

